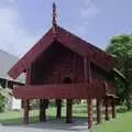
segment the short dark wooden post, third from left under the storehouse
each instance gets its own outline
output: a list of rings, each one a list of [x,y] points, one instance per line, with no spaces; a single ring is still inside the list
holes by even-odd
[[[56,100],[56,107],[57,107],[56,119],[61,119],[62,118],[62,100],[61,99]]]

